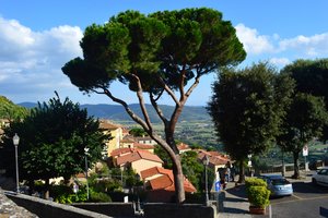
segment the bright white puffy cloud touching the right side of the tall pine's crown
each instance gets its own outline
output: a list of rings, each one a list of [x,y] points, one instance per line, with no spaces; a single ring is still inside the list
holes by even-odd
[[[235,28],[237,37],[244,44],[247,53],[259,55],[274,50],[269,36],[259,35],[257,29],[246,27],[244,24],[238,24]],[[277,37],[279,36],[274,35],[274,38]]]

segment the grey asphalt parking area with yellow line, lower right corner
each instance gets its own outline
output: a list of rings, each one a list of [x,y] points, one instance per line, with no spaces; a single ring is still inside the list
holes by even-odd
[[[313,185],[309,181],[294,181],[293,189],[292,196],[270,199],[272,217],[328,217],[328,187]]]

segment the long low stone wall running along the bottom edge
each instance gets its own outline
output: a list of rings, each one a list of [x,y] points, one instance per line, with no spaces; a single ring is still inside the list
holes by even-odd
[[[11,198],[15,204],[8,199],[4,194]],[[113,217],[136,217],[134,207],[132,203],[110,203],[110,204],[85,204],[80,205],[85,209],[78,207],[57,204],[50,201],[19,194],[13,192],[0,192],[0,217],[7,218],[14,215],[15,217],[47,217],[47,218],[59,218],[59,217],[70,217],[70,218],[108,218]],[[16,205],[21,206],[17,207]],[[79,206],[79,205],[75,205]],[[22,208],[24,207],[24,208]],[[31,214],[31,213],[34,214]],[[89,209],[89,210],[86,210]],[[90,211],[94,210],[94,211]],[[95,213],[98,211],[98,213]],[[2,214],[1,214],[2,213]],[[17,214],[13,214],[17,213]],[[103,214],[99,214],[103,213]],[[106,216],[105,214],[109,215]],[[4,216],[2,216],[4,215]],[[7,216],[8,215],[8,216]],[[210,206],[206,207],[203,205],[197,204],[164,204],[164,203],[149,203],[143,205],[143,213],[138,214],[139,216],[144,216],[145,218],[218,218],[216,207]]]

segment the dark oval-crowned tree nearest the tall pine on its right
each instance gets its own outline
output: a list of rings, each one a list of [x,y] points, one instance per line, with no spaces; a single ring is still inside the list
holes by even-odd
[[[267,63],[224,69],[213,84],[208,110],[223,148],[239,165],[238,182],[245,181],[247,155],[263,153],[278,135],[293,84]]]

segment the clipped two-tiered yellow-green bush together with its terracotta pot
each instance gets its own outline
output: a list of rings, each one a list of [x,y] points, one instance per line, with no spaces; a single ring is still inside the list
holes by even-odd
[[[250,214],[266,214],[266,207],[270,204],[270,191],[261,179],[250,178],[245,182],[246,194],[250,203]]]

